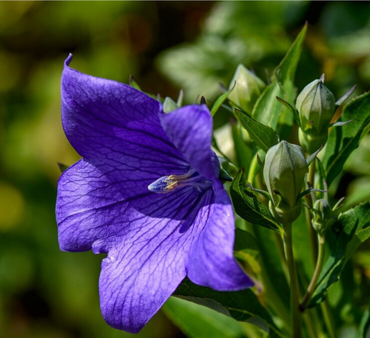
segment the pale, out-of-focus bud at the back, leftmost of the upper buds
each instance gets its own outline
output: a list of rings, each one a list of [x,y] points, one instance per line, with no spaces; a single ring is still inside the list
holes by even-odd
[[[229,89],[233,87],[235,81],[235,88],[230,92],[228,98],[246,112],[252,112],[253,105],[260,94],[262,94],[266,85],[258,76],[255,76],[249,69],[244,67],[244,65],[237,66]]]

